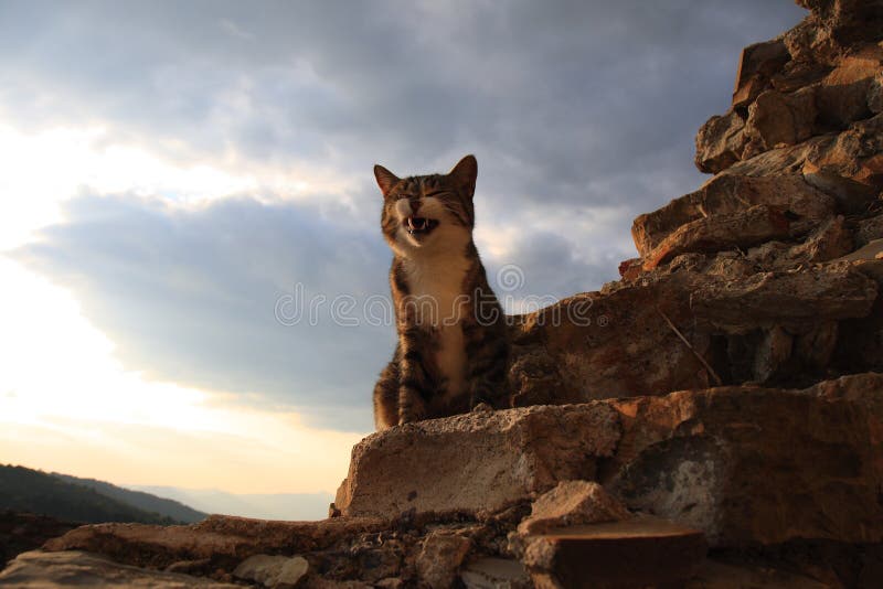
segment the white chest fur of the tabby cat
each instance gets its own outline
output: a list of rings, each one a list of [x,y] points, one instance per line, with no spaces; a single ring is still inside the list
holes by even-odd
[[[462,336],[462,282],[469,260],[458,256],[438,256],[409,260],[407,281],[416,306],[417,322],[436,330],[438,347],[435,363],[447,379],[447,394],[462,393],[466,377],[466,345]]]

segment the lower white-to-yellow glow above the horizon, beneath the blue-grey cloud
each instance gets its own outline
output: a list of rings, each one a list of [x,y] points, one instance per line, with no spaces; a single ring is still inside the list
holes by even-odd
[[[130,484],[333,492],[360,435],[127,372],[76,301],[0,261],[0,457]]]

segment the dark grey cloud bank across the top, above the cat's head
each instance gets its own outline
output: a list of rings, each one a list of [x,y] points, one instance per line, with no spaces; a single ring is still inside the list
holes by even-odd
[[[692,170],[693,133],[726,107],[741,47],[804,13],[785,0],[4,6],[0,101],[22,125],[99,120],[175,158],[354,175],[477,151],[497,206],[511,192],[494,189],[514,185],[641,210],[673,195],[585,185],[670,175],[671,151]]]

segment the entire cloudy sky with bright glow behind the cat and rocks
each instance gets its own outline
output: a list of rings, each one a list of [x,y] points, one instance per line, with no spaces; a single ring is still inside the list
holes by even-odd
[[[0,0],[0,463],[333,492],[395,342],[371,172],[478,158],[510,312],[695,190],[788,0]],[[507,274],[514,280],[501,280]]]

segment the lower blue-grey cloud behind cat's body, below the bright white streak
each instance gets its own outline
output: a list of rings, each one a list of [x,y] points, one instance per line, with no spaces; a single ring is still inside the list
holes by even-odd
[[[83,194],[63,216],[11,257],[72,289],[124,365],[295,408],[319,427],[371,428],[371,389],[394,346],[376,215],[357,223],[342,210],[247,196],[193,208]],[[489,278],[515,299],[613,278],[610,260],[573,250],[524,231],[504,257],[486,256]],[[513,263],[524,283],[500,289],[498,271]]]

